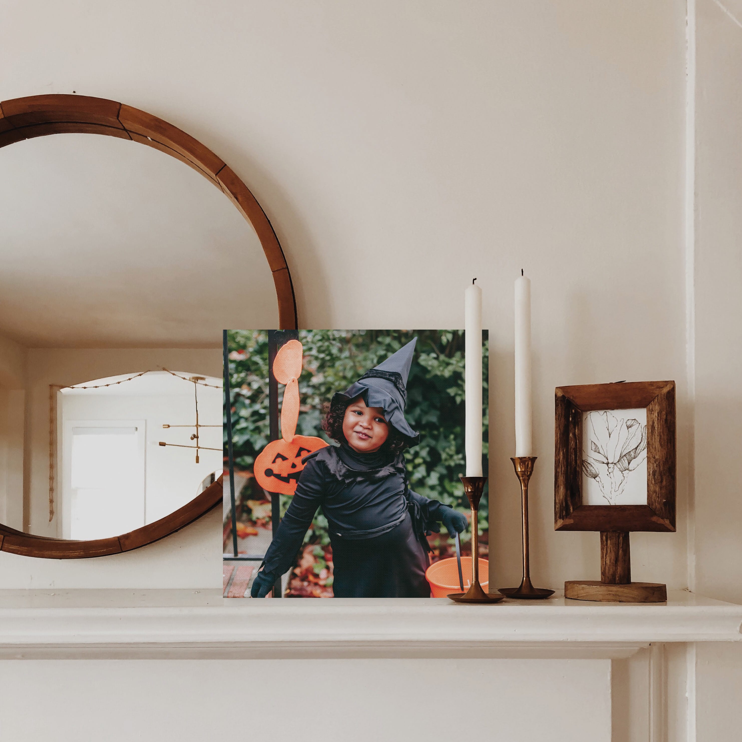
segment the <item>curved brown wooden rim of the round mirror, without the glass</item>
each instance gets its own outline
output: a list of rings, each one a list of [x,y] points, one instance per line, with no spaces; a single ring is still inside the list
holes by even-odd
[[[50,134],[102,134],[131,139],[185,162],[211,180],[250,223],[273,274],[280,329],[298,327],[296,299],[289,266],[278,237],[250,189],[201,142],[157,116],[103,98],[39,95],[0,102],[0,147]],[[182,508],[120,536],[71,541],[33,536],[0,524],[0,551],[24,557],[81,559],[131,551],[180,531],[222,502],[222,477]]]

